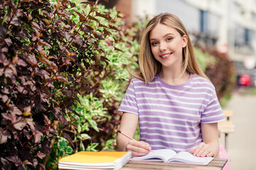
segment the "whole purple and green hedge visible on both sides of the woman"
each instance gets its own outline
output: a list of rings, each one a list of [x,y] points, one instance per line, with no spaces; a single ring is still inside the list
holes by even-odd
[[[116,149],[117,108],[147,20],[128,28],[122,13],[97,3],[0,5],[2,169],[58,169],[60,157],[80,150]],[[230,95],[228,57],[195,52],[220,99]]]

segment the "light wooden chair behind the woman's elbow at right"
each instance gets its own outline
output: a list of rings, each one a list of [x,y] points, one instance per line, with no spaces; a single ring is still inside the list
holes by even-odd
[[[235,125],[233,125],[233,122],[230,120],[230,118],[233,116],[233,111],[223,110],[224,116],[226,118],[225,121],[218,123],[218,132],[219,137],[221,133],[225,134],[225,149],[228,151],[228,134],[235,132]]]

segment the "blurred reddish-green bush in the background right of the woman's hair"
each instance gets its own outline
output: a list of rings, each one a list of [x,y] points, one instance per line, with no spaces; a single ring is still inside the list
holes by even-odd
[[[200,40],[195,43],[198,62],[206,76],[215,86],[220,105],[223,107],[230,100],[235,89],[235,67],[228,54],[218,52],[215,46],[204,47]]]

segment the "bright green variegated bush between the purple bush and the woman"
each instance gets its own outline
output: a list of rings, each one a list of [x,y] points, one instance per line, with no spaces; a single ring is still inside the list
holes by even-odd
[[[97,10],[100,13],[109,13],[113,18],[117,16],[115,9],[109,10],[98,5]],[[122,16],[122,14],[119,15]],[[102,24],[109,22],[105,18],[98,19]],[[116,149],[115,129],[120,122],[120,113],[117,112],[117,108],[131,79],[127,72],[127,65],[129,64],[132,68],[138,67],[139,43],[133,38],[134,29],[127,28],[123,18],[115,18],[112,26],[119,32],[110,30],[110,40],[99,42],[100,47],[108,52],[107,64],[102,63],[102,69],[93,69],[88,72],[85,78],[90,79],[92,91],[90,93],[82,91],[81,95],[78,95],[80,102],[75,102],[73,106],[78,114],[73,113],[70,117],[74,118],[73,123],[78,128],[65,131],[74,141],[75,149],[70,149],[68,140],[56,137],[46,164],[48,169],[57,169],[58,159],[74,152]],[[118,43],[113,47],[113,43],[117,41]],[[65,118],[71,121],[70,118]]]

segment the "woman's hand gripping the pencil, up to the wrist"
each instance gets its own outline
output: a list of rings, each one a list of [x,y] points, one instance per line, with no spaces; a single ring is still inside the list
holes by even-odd
[[[128,152],[132,152],[132,157],[141,157],[151,152],[148,143],[137,140],[129,140],[126,149]]]

